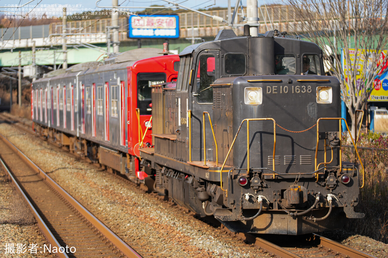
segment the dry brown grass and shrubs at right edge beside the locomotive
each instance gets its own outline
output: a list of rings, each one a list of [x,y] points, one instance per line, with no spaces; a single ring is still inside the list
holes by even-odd
[[[360,138],[359,146],[374,148],[359,149],[365,167],[364,188],[360,189],[357,212],[365,214],[364,219],[353,219],[346,229],[360,235],[388,243],[388,139],[378,133],[369,133]],[[354,160],[352,149],[343,148],[344,160]]]

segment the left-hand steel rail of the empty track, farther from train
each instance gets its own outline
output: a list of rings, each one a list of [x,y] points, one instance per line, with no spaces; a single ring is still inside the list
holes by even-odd
[[[43,235],[46,237],[46,239],[55,247],[57,247],[57,249],[59,250],[59,248],[61,247],[61,244],[58,243],[58,240],[55,238],[55,236],[52,234],[52,232],[50,231],[49,227],[47,227],[46,223],[43,221],[42,217],[40,217],[38,211],[35,209],[35,207],[33,206],[33,204],[29,201],[28,197],[26,196],[26,193],[24,193],[24,191],[22,190],[22,188],[19,186],[19,184],[17,183],[16,179],[14,178],[14,176],[12,175],[11,171],[9,171],[8,167],[4,164],[3,160],[0,158],[0,164],[1,166],[3,167],[4,171],[7,171],[8,173],[8,179],[13,183],[13,185],[15,186],[16,190],[20,193],[20,195],[23,197],[24,199],[24,202],[28,205],[28,208],[31,210],[31,212],[33,213],[36,221],[38,222],[38,226],[40,228],[40,230],[42,230],[43,232]],[[69,258],[69,256],[64,252],[64,253],[61,253],[61,252],[58,252],[57,255],[60,257],[60,258]]]

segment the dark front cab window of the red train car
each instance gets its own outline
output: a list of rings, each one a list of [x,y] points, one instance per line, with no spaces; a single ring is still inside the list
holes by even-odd
[[[140,114],[151,114],[152,85],[166,82],[166,73],[138,73],[137,74],[137,107]]]

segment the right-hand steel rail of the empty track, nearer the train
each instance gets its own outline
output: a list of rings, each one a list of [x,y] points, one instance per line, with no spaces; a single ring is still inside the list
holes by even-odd
[[[66,190],[64,190],[60,185],[58,185],[49,175],[47,175],[40,167],[31,161],[26,155],[24,155],[21,150],[19,150],[14,144],[12,144],[7,138],[5,138],[0,133],[0,138],[16,152],[36,173],[40,174],[43,179],[49,183],[49,185],[54,188],[60,195],[62,195],[66,201],[68,201],[81,215],[83,215],[93,226],[95,226],[109,241],[111,241],[120,251],[128,256],[129,258],[141,258],[135,250],[133,250],[128,244],[126,244],[119,236],[117,236],[109,227],[102,223],[97,217],[95,217],[87,208],[74,199]]]

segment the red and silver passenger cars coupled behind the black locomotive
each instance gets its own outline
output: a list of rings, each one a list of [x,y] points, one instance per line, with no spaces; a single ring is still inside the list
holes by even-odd
[[[35,130],[132,179],[139,144],[152,145],[151,89],[177,79],[179,58],[142,48],[57,70],[32,84]],[[129,174],[128,174],[129,172]]]

